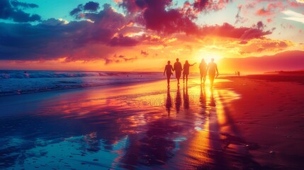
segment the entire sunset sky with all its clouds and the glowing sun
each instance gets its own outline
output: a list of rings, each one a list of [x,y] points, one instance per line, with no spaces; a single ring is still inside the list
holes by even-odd
[[[304,51],[304,0],[1,0],[0,69],[160,71]]]

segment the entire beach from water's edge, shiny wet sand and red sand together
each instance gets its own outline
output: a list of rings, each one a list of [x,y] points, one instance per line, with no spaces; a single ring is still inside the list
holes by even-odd
[[[0,98],[1,169],[302,169],[303,85],[245,77]]]

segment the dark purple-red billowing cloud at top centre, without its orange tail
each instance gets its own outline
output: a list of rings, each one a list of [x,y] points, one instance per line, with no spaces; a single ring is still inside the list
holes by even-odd
[[[171,0],[124,0],[120,6],[130,13],[142,11],[137,22],[150,30],[187,34],[193,34],[198,30],[196,24],[180,13],[179,9],[167,8],[171,6]]]

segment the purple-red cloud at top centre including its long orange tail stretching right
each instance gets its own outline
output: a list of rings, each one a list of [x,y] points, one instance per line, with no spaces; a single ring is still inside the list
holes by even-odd
[[[224,8],[229,2],[228,0],[197,0],[192,5],[190,3],[185,4],[192,11],[216,11]],[[123,0],[120,6],[129,13],[137,13],[137,23],[159,33],[186,33],[198,36],[216,35],[240,40],[262,38],[264,35],[272,33],[272,30],[264,30],[265,25],[261,22],[252,28],[236,28],[229,23],[223,23],[222,26],[197,26],[192,20],[193,16],[188,14],[188,10],[183,13],[181,11],[184,10],[183,8],[171,8],[171,0]]]

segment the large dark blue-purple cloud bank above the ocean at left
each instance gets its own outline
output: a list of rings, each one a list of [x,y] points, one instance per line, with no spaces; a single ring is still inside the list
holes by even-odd
[[[53,60],[59,57],[67,57],[67,61],[106,60],[115,47],[137,44],[137,40],[123,35],[114,37],[118,28],[128,21],[111,6],[87,14],[94,23],[67,23],[55,18],[35,26],[0,23],[0,60]]]

